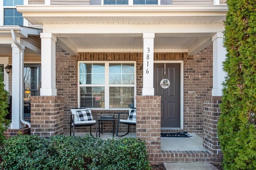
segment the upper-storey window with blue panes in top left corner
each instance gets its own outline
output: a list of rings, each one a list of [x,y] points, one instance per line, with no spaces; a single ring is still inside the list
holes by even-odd
[[[23,5],[23,0],[4,0],[4,25],[23,25],[22,14],[14,8],[16,5]]]

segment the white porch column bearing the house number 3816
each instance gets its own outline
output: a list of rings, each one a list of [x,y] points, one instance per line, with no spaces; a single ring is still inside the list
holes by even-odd
[[[142,96],[154,96],[154,37],[155,33],[143,33]]]

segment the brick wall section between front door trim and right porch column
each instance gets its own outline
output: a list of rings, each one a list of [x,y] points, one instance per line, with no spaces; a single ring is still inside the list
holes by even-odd
[[[212,45],[184,59],[184,130],[203,131],[203,99],[212,95]]]

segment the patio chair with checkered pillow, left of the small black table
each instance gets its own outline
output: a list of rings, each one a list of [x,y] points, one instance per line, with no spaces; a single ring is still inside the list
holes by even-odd
[[[95,120],[92,115],[95,115]],[[90,108],[72,108],[70,114],[70,136],[71,127],[73,127],[73,136],[75,136],[75,127],[88,127],[90,126],[90,135],[92,135],[92,126],[96,127],[96,137],[97,135],[97,114],[92,114]]]

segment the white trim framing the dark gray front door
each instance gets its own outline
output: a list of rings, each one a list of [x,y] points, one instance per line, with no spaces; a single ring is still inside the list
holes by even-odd
[[[180,63],[180,129],[184,129],[184,61],[154,61],[154,63]]]

